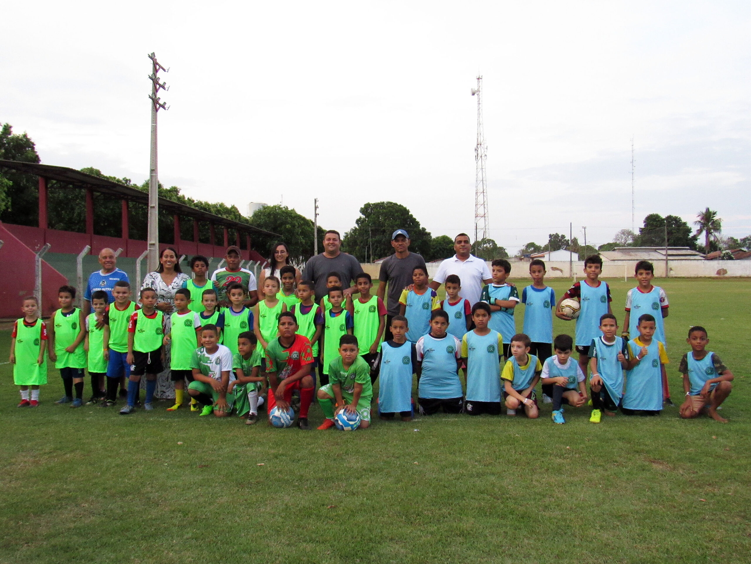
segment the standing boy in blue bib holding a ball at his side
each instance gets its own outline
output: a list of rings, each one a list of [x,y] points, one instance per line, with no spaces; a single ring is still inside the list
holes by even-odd
[[[556,304],[556,317],[571,321],[571,317],[562,314],[561,302],[569,298],[579,300],[581,309],[576,319],[576,352],[579,353],[579,368],[584,374],[587,374],[587,366],[590,363],[592,341],[602,335],[600,317],[613,313],[610,287],[599,280],[600,274],[602,259],[598,255],[587,256],[584,259],[584,280],[575,282]]]

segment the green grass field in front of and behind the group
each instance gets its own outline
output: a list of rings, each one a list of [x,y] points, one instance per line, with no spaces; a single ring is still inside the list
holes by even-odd
[[[608,282],[621,320],[633,284]],[[40,407],[17,409],[2,365],[0,562],[749,562],[751,280],[658,284],[671,395],[682,401],[686,331],[704,325],[736,376],[726,425],[671,408],[599,426],[567,409],[555,426],[544,405],[538,420],[301,432],[166,402],[129,417],[73,410],[53,405],[53,370]]]

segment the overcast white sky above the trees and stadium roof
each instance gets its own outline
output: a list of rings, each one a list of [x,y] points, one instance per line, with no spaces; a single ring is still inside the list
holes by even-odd
[[[342,232],[365,202],[474,229],[484,77],[490,234],[602,244],[646,214],[751,233],[749,2],[23,2],[3,7],[0,121],[42,162],[282,201]]]

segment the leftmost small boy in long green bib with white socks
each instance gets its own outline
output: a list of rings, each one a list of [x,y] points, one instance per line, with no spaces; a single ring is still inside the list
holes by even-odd
[[[47,384],[47,326],[39,319],[39,305],[34,296],[24,298],[21,304],[23,317],[16,320],[11,334],[13,383],[20,387],[20,408],[39,405],[39,387]],[[29,399],[29,387],[32,388]]]

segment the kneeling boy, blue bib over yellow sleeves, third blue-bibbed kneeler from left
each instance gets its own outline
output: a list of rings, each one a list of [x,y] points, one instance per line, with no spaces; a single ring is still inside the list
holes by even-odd
[[[501,413],[501,367],[503,336],[488,327],[490,305],[472,306],[475,329],[462,337],[462,357],[466,359],[467,393],[464,412],[469,415]]]

